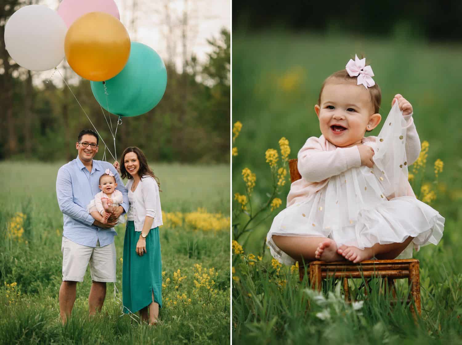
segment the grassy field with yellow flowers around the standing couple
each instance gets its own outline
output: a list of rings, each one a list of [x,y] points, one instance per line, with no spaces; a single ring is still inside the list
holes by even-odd
[[[0,343],[229,342],[229,167],[152,165],[163,191],[163,325],[139,326],[128,315],[120,317],[113,284],[108,284],[102,313],[88,321],[91,277],[87,270],[84,282],[77,285],[72,317],[61,327],[62,213],[55,193],[61,165],[0,162],[5,179],[0,198]],[[119,258],[125,228],[119,225],[116,230],[116,287],[122,299]]]

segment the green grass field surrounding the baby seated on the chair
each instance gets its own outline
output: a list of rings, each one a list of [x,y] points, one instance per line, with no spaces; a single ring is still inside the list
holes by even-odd
[[[438,183],[430,185],[438,195],[432,207],[446,218],[443,240],[438,246],[429,245],[419,253],[414,252],[421,264],[422,318],[414,325],[406,308],[390,309],[385,297],[365,303],[358,311],[342,304],[340,295],[335,293],[324,303],[321,297],[310,296],[304,290],[304,283],[298,283],[289,267],[272,263],[268,251],[262,254],[272,218],[286,206],[290,188],[287,176],[288,182],[276,195],[282,205],[261,224],[250,226],[252,230],[238,241],[243,253],[233,255],[235,343],[253,340],[261,344],[297,344],[307,339],[334,344],[461,343],[462,135],[459,128],[462,116],[458,101],[461,45],[417,42],[402,36],[384,39],[340,33],[320,36],[234,32],[232,121],[242,122],[243,127],[233,144],[238,152],[232,161],[233,194],[244,194],[241,172],[249,168],[256,176],[253,207],[267,200],[273,182],[265,151],[268,148],[279,151],[278,140],[286,137],[292,149],[289,158],[295,158],[307,138],[321,135],[314,105],[322,81],[344,68],[355,53],[364,54],[366,65],[373,68],[374,80],[382,89],[383,118],[388,115],[396,93],[413,104],[419,137],[430,144],[425,179],[433,181],[433,163],[437,158],[444,162]],[[381,127],[371,135],[377,135]],[[237,201],[232,205],[234,211],[240,207]],[[247,219],[241,214],[233,219],[233,224],[242,225]],[[364,292],[360,289],[357,293]],[[310,311],[306,309],[308,301],[315,306]],[[323,316],[328,309],[330,316]],[[316,316],[317,313],[321,314]]]

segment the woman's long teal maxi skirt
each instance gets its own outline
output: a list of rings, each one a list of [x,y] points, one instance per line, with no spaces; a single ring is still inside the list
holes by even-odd
[[[127,222],[123,242],[122,301],[123,312],[135,313],[154,302],[162,308],[162,260],[160,257],[159,228],[146,236],[146,253],[136,254],[136,243],[141,232],[135,231],[133,221]]]

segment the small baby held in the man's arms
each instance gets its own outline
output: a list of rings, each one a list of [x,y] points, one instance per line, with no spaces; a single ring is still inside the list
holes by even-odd
[[[87,205],[87,212],[91,214],[93,219],[106,224],[114,206],[122,204],[122,192],[117,190],[116,187],[117,182],[114,174],[109,169],[106,169],[104,174],[99,177],[99,189],[101,189],[101,192],[97,193],[95,199],[91,200],[90,204]],[[118,223],[124,224],[125,217],[121,215]]]

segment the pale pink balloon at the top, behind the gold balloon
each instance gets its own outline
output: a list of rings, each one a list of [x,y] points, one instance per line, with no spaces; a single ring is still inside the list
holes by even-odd
[[[58,14],[66,23],[67,28],[86,13],[105,12],[120,20],[119,10],[114,0],[62,0]]]

